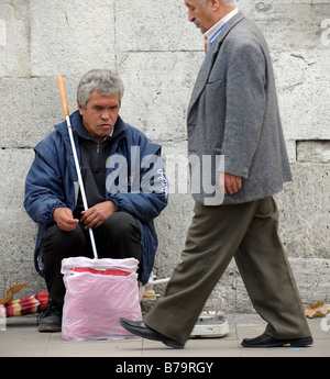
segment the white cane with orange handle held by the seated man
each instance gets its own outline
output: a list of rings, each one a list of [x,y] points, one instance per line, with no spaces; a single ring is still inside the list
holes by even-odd
[[[88,204],[87,204],[84,182],[82,182],[81,172],[80,172],[80,166],[79,166],[79,161],[78,161],[75,140],[74,140],[74,134],[73,134],[73,126],[72,126],[70,118],[69,118],[69,109],[68,109],[67,98],[66,98],[66,92],[65,92],[65,87],[64,87],[64,79],[63,79],[62,75],[58,75],[57,81],[58,81],[58,86],[59,86],[59,92],[61,92],[61,98],[62,98],[64,115],[65,115],[65,119],[66,119],[67,130],[68,130],[68,133],[69,133],[70,144],[72,144],[72,148],[73,148],[73,153],[74,153],[75,166],[76,166],[76,171],[77,171],[77,176],[78,176],[78,183],[79,183],[79,187],[80,187],[82,204],[84,204],[85,211],[87,211],[88,210]],[[91,227],[89,228],[89,236],[90,236],[90,243],[91,243],[91,247],[92,247],[94,257],[95,257],[95,259],[98,259],[98,253],[97,253],[97,248],[96,248],[96,244],[95,244],[95,238],[94,238],[94,233],[92,233],[92,228]]]

